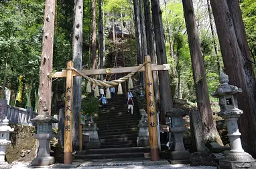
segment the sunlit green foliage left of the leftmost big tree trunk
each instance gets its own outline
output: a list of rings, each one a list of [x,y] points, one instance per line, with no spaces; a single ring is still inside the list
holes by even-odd
[[[43,9],[43,0],[0,3],[0,85],[6,70],[7,88],[12,94],[17,92],[17,77],[21,74],[23,82],[38,84]]]

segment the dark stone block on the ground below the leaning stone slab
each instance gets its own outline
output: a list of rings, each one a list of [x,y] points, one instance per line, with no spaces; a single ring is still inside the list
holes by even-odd
[[[217,166],[216,156],[211,152],[194,152],[190,156],[190,166]]]

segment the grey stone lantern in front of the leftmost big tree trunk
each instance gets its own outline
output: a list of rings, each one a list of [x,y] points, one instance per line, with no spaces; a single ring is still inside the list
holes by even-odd
[[[54,157],[50,156],[50,139],[52,138],[52,123],[58,120],[49,115],[48,110],[31,119],[31,122],[38,124],[38,133],[34,135],[39,141],[38,157],[34,158],[31,166],[49,166],[54,164]]]

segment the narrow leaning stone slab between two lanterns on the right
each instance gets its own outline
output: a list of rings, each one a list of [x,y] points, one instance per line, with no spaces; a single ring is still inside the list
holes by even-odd
[[[202,131],[202,120],[199,111],[191,112],[191,118],[194,129],[194,140],[196,141],[196,150],[198,152],[204,152],[204,136]]]

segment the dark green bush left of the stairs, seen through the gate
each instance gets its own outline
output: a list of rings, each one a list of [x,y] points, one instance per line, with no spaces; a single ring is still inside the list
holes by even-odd
[[[94,115],[99,112],[99,100],[92,94],[86,94],[82,99],[82,113],[85,115]]]

